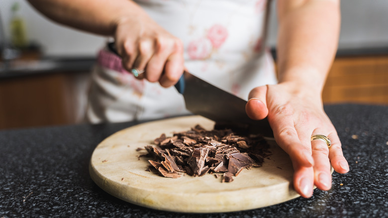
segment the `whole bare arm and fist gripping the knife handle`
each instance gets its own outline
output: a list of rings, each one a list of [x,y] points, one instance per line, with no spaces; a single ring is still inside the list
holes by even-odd
[[[132,0],[28,0],[59,23],[113,36],[123,66],[145,70],[141,77],[174,85],[184,69],[180,39],[160,27]]]

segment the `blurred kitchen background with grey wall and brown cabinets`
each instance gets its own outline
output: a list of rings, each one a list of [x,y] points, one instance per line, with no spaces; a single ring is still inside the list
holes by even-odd
[[[267,43],[276,57],[272,9]],[[341,12],[324,103],[388,105],[387,0],[342,0]],[[84,122],[90,71],[106,40],[54,23],[25,0],[1,0],[0,129]]]

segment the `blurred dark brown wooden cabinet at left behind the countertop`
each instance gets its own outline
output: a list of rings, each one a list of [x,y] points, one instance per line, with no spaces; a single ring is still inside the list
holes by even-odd
[[[1,79],[0,129],[80,122],[88,78],[56,72]]]

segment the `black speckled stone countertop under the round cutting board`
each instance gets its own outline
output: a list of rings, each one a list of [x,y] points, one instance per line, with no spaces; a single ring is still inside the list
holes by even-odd
[[[388,217],[388,106],[329,105],[350,172],[330,191],[250,211],[178,214],[121,201],[89,176],[97,144],[136,122],[0,131],[0,217]],[[342,184],[342,185],[341,185]]]

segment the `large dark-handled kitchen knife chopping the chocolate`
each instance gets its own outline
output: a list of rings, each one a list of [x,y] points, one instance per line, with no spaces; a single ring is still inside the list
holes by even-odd
[[[114,43],[108,43],[110,51],[119,55]],[[206,81],[184,71],[175,84],[177,91],[183,95],[186,108],[194,114],[209,118],[221,125],[248,128],[249,133],[273,137],[267,118],[253,120],[245,112],[247,101],[230,94]]]

